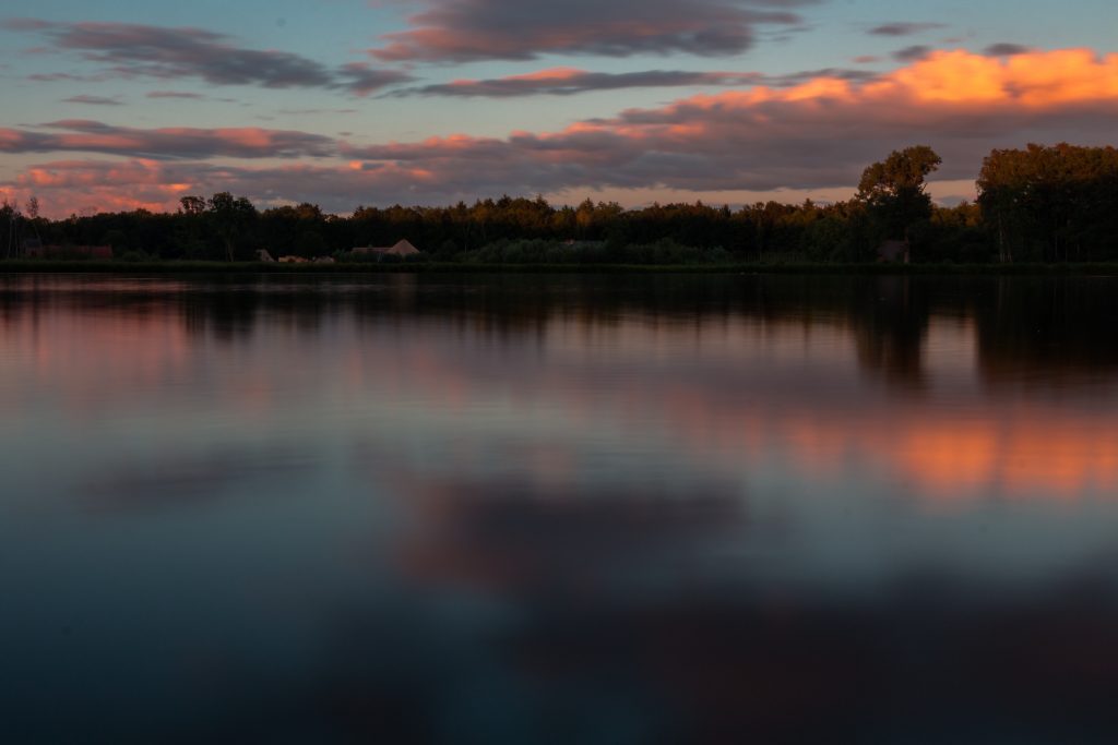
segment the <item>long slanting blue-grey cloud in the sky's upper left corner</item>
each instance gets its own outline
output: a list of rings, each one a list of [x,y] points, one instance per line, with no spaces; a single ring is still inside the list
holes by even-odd
[[[8,20],[2,27],[42,35],[53,49],[78,52],[84,60],[104,66],[103,75],[116,77],[199,78],[214,85],[332,88],[354,95],[410,79],[405,73],[360,63],[331,68],[287,51],[245,49],[231,45],[224,34],[200,28],[36,19]],[[35,77],[78,79],[66,74]]]

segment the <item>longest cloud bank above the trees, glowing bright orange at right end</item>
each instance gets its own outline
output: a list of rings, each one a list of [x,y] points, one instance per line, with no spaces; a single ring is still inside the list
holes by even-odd
[[[865,82],[821,76],[785,88],[726,90],[506,137],[456,135],[356,146],[307,142],[313,135],[304,133],[271,133],[247,147],[243,136],[202,131],[191,137],[187,131],[179,135],[182,142],[172,137],[155,144],[183,157],[190,152],[212,157],[222,150],[268,152],[286,139],[292,155],[337,149],[349,162],[265,168],[153,157],[136,159],[131,166],[64,162],[29,169],[7,185],[44,198],[54,190],[63,203],[78,203],[87,194],[107,203],[101,195],[106,193],[135,193],[138,202],[151,203],[155,185],[177,183],[186,184],[187,193],[228,190],[260,203],[310,200],[333,211],[359,203],[446,203],[591,189],[660,190],[680,199],[689,192],[853,191],[865,165],[893,149],[927,143],[944,156],[938,178],[974,179],[993,147],[1111,143],[1116,116],[1118,55],[1067,49],[999,58],[956,50],[934,52]],[[79,135],[94,126],[80,128]],[[130,132],[152,146],[149,131],[117,134]],[[30,136],[0,130],[0,151],[29,152],[23,140]],[[34,152],[47,144],[40,142]],[[75,144],[80,147],[74,150],[92,149],[88,141]],[[111,140],[96,152],[124,154],[130,147],[135,145]],[[167,195],[169,206],[177,193]]]

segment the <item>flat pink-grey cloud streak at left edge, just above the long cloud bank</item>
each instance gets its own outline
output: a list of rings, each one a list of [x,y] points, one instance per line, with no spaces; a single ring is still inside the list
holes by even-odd
[[[300,157],[331,155],[333,140],[306,132],[230,127],[199,130],[165,127],[135,130],[86,120],[65,120],[42,125],[42,132],[0,128],[0,152],[92,152],[130,157],[211,159]]]

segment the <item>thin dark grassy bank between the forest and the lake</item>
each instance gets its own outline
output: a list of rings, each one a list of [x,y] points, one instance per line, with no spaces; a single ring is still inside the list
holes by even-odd
[[[1118,275],[1118,264],[260,264],[257,261],[0,260],[0,274],[878,274]]]

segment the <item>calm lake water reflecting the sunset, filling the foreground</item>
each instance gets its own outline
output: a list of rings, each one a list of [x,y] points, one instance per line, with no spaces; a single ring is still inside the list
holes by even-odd
[[[1118,279],[0,277],[0,739],[1118,736]]]

